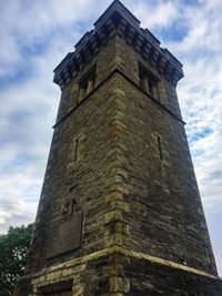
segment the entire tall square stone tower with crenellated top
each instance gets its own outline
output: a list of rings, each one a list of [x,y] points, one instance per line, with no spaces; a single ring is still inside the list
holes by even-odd
[[[182,76],[117,0],[56,68],[61,102],[16,296],[222,295]]]

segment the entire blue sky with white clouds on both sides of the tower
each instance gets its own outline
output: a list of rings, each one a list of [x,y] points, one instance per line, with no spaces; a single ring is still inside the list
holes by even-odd
[[[110,2],[0,1],[0,233],[34,220],[60,98],[53,69]],[[222,275],[222,1],[122,2],[184,65],[178,93]]]

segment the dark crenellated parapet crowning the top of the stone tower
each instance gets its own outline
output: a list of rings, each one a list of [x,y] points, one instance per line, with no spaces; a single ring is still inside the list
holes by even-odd
[[[140,21],[115,0],[94,23],[94,29],[75,44],[75,51],[68,53],[54,69],[53,81],[63,89],[114,35],[124,38],[142,59],[158,69],[173,85],[183,78],[182,64],[170,51],[162,49],[160,41],[148,29],[142,29]]]

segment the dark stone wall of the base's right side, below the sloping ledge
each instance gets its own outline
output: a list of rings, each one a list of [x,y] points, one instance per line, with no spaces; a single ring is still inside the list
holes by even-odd
[[[219,296],[221,280],[141,258],[131,258],[124,269],[130,282],[125,296]]]

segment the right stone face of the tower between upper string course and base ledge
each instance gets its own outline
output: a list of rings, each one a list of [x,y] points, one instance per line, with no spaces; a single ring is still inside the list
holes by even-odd
[[[129,247],[214,273],[183,125],[124,78]],[[159,150],[160,140],[161,154]]]

